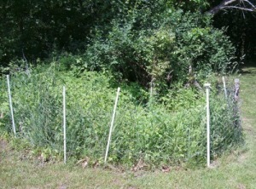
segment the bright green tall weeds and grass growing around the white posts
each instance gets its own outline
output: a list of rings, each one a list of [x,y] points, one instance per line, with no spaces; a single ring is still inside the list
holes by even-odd
[[[7,95],[1,79],[1,119],[7,129]],[[32,146],[62,152],[61,88],[67,88],[67,155],[89,157],[102,162],[107,146],[115,88],[109,77],[97,72],[60,72],[53,64],[38,67],[29,75],[17,72],[11,77],[15,123],[19,137]],[[170,103],[141,104],[134,97],[134,86],[123,86],[119,98],[108,161],[131,166],[139,160],[149,166],[160,164],[205,164],[207,152],[205,94],[180,89],[170,94]],[[189,95],[191,94],[191,95]],[[6,98],[5,98],[6,96]],[[188,98],[189,96],[189,98]],[[192,98],[192,97],[193,98]],[[192,99],[191,99],[191,98]],[[230,98],[232,98],[230,96]],[[145,99],[143,96],[139,99]],[[174,103],[174,104],[173,104]],[[180,104],[179,104],[180,103]],[[236,103],[212,90],[212,158],[242,141]],[[187,108],[186,108],[187,106]],[[183,107],[183,108],[181,108]]]

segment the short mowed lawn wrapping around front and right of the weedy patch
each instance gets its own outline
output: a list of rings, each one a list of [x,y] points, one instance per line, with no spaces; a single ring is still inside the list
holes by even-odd
[[[0,140],[0,188],[256,188],[256,68],[241,75],[241,117],[246,144],[215,162],[214,168],[170,172],[85,168],[27,160]]]

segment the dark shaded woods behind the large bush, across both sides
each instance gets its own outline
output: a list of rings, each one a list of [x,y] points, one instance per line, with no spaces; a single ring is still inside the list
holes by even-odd
[[[167,10],[178,9],[214,14],[214,26],[227,28],[238,57],[255,56],[255,0],[1,0],[0,8],[2,66],[17,58],[35,63],[53,51],[83,54],[97,35],[108,37],[114,20],[121,26],[139,15],[133,25],[139,31],[155,25]]]

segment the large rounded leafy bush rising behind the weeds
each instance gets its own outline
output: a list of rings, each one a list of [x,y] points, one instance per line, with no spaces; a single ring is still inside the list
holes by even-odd
[[[201,14],[137,10],[126,20],[113,20],[112,26],[108,36],[98,34],[86,50],[87,69],[111,70],[118,80],[145,87],[153,82],[162,91],[176,81],[187,83],[189,74],[201,79],[234,66],[235,49],[229,38]]]

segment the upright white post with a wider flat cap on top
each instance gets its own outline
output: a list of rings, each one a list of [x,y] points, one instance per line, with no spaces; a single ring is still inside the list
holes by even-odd
[[[211,152],[211,135],[210,135],[210,103],[209,103],[209,90],[210,90],[210,83],[206,83],[205,87],[207,89],[207,167],[211,166],[211,159],[210,159],[210,152]]]

